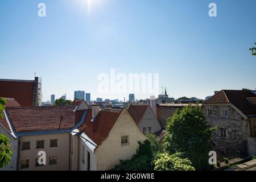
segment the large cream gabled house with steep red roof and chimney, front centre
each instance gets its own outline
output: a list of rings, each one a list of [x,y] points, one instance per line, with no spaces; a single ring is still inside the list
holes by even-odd
[[[72,131],[72,170],[108,170],[130,159],[146,137],[126,109],[88,109],[84,123]]]

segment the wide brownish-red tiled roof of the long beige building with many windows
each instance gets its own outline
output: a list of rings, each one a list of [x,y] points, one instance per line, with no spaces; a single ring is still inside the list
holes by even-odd
[[[14,129],[19,132],[65,130],[75,126],[73,107],[6,107]]]

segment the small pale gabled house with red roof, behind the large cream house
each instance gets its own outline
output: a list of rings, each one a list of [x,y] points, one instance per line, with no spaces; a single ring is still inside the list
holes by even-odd
[[[128,113],[143,134],[156,133],[162,129],[150,105],[130,105]]]

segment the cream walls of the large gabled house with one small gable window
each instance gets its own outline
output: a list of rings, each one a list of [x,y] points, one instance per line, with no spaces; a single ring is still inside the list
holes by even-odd
[[[124,136],[128,136],[127,144],[121,144],[121,137]],[[76,137],[73,136],[73,143],[77,143],[77,141],[75,142]],[[130,159],[136,153],[139,146],[138,141],[143,142],[146,137],[139,130],[127,110],[123,109],[108,137],[99,146],[96,144],[94,146],[93,141],[88,142],[90,139],[86,138],[85,134],[81,135],[79,140],[79,157],[73,152],[73,159],[78,158],[79,160],[79,170],[88,170],[88,153],[90,153],[90,170],[102,171],[112,169],[116,164],[119,164],[119,160]],[[75,146],[73,146],[73,151],[76,151]],[[73,170],[76,170],[76,164],[73,165]]]

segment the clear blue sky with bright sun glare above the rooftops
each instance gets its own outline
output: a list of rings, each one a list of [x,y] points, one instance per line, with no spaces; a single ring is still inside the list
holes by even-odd
[[[97,76],[159,73],[169,96],[205,98],[214,90],[256,87],[256,1],[2,0],[0,78],[42,77],[43,100],[85,90]],[[47,16],[38,16],[46,3]],[[208,5],[217,4],[210,18]],[[137,94],[136,98],[149,95]]]

